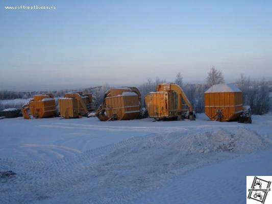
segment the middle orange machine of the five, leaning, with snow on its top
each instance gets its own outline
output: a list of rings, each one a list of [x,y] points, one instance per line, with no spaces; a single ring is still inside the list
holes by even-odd
[[[137,88],[113,88],[106,92],[96,116],[102,121],[130,120],[138,117],[140,108],[141,95]]]

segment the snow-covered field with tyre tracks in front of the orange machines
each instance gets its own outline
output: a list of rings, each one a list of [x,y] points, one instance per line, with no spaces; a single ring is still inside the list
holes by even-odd
[[[272,175],[272,115],[252,124],[0,120],[0,203],[245,203]],[[272,196],[272,195],[270,195]]]

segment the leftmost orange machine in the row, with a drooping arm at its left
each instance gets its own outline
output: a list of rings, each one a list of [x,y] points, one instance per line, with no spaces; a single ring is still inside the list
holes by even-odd
[[[30,119],[29,111],[35,118],[53,117],[57,113],[54,96],[51,93],[34,95],[21,111],[24,119]]]

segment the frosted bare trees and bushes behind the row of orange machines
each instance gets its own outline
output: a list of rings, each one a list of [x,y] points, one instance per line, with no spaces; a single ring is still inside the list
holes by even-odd
[[[166,82],[165,79],[156,78],[154,80],[147,79],[146,82],[139,85],[138,88],[142,95],[142,105],[144,106],[144,96],[156,90],[156,86],[160,83]],[[181,73],[176,75],[176,78],[172,83],[176,83],[181,86],[190,100],[194,110],[196,113],[204,112],[204,92],[212,85],[224,83],[224,76],[221,71],[217,70],[215,67],[212,67],[207,74],[206,83],[205,84],[191,84],[184,83],[183,77]],[[253,114],[265,114],[272,110],[271,106],[271,96],[269,94],[272,93],[272,84],[271,82],[265,82],[264,80],[261,82],[251,81],[250,78],[245,78],[244,75],[241,74],[240,78],[237,79],[237,83],[234,83],[238,86],[243,92],[243,104],[249,105],[252,109]],[[59,90],[59,91],[51,91],[55,97],[63,97],[65,93],[69,91],[83,91],[85,93],[93,94],[93,105],[98,108],[99,105],[102,104],[104,95],[106,91],[110,89],[108,84],[97,87],[90,87],[86,89],[80,90]],[[2,99],[15,99],[15,98],[32,98],[35,94],[48,93],[48,91],[32,91],[32,92],[15,92],[15,91],[0,91],[0,100]],[[19,105],[13,104],[14,108]],[[12,105],[5,105],[4,108],[10,108]],[[3,109],[3,104],[1,105],[0,101],[0,110]]]

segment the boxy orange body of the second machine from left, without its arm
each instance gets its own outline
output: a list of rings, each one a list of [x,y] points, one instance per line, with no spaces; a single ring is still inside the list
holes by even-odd
[[[79,117],[78,101],[75,98],[60,98],[59,99],[60,116],[64,118]]]

